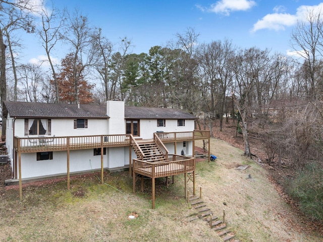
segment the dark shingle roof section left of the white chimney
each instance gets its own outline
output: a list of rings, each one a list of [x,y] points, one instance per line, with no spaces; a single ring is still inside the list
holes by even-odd
[[[109,118],[102,105],[4,102],[4,114],[20,118]]]

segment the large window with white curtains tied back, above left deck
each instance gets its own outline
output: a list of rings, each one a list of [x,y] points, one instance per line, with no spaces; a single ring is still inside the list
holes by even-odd
[[[50,119],[25,119],[25,135],[50,135]]]

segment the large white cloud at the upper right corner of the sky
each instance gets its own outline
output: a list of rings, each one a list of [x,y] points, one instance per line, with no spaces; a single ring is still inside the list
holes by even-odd
[[[267,14],[261,20],[258,20],[251,30],[251,32],[256,32],[260,29],[272,29],[272,30],[285,30],[286,27],[293,26],[296,24],[297,20],[306,20],[308,12],[313,11],[319,13],[323,10],[323,3],[315,6],[300,6],[296,10],[296,14],[279,13],[284,12],[283,6],[276,6],[274,8],[273,14]]]

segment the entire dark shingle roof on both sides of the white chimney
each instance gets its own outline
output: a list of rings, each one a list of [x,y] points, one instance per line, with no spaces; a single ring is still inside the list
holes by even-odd
[[[109,118],[106,105],[4,102],[4,114],[17,118]],[[125,107],[127,119],[197,119],[180,109]]]

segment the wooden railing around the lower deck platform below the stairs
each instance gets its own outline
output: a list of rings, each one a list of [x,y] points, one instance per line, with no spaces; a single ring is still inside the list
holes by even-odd
[[[133,159],[133,169],[137,174],[147,177],[165,177],[179,175],[195,170],[195,158],[188,158],[178,155],[169,155],[169,161],[146,162]]]

